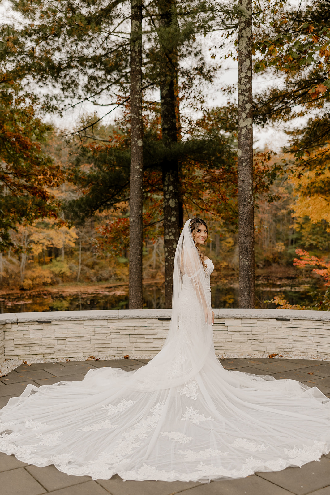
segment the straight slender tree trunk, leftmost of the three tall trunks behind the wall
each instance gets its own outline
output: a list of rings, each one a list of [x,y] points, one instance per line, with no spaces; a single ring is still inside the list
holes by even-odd
[[[142,309],[142,0],[131,0],[130,309]]]

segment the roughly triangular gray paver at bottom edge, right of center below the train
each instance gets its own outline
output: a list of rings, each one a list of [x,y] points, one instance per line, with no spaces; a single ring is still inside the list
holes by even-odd
[[[187,495],[292,495],[292,492],[252,475],[237,480],[214,481],[191,488]]]

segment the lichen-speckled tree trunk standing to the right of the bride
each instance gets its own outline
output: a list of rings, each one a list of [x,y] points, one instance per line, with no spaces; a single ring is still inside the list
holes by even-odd
[[[251,0],[239,0],[239,5],[237,149],[239,307],[254,308]]]

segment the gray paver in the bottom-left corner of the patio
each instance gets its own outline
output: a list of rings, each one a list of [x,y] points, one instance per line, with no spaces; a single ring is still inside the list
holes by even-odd
[[[24,467],[0,473],[0,487],[5,495],[40,495],[46,493],[39,483],[27,473]]]

